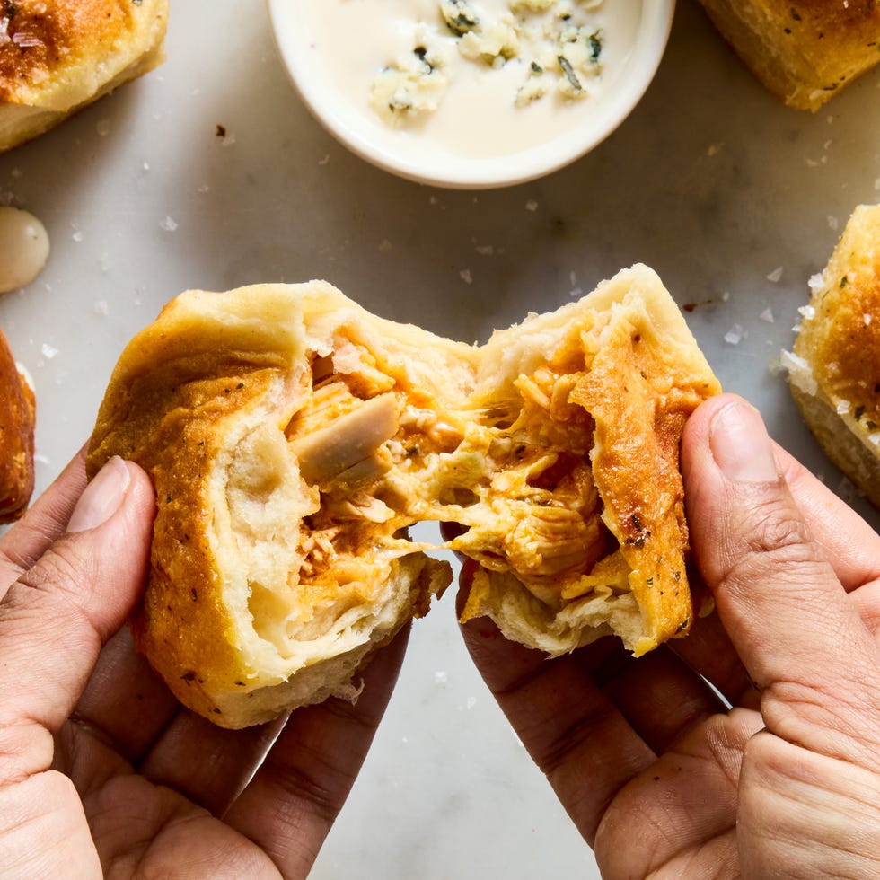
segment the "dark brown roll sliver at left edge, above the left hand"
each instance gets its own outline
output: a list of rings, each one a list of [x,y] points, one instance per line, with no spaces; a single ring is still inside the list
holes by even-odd
[[[27,509],[33,493],[33,390],[0,331],[0,524]]]

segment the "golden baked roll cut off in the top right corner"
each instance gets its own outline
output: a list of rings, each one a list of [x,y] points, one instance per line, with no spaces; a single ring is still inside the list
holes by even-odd
[[[876,0],[700,0],[770,92],[818,110],[880,62]]]

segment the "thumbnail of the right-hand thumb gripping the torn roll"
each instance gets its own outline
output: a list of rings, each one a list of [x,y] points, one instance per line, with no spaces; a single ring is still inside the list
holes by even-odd
[[[730,403],[715,414],[709,446],[729,480],[769,483],[779,479],[767,428],[758,411],[747,404]]]

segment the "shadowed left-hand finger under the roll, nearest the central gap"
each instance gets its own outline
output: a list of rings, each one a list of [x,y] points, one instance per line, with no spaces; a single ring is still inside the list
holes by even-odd
[[[297,709],[251,784],[226,814],[284,876],[306,876],[345,803],[391,698],[409,628],[377,652],[356,703]]]

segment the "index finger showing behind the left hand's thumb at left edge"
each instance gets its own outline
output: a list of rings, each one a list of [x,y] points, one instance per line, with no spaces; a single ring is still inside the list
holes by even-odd
[[[85,482],[85,453],[80,450],[22,519],[0,537],[0,599],[65,532]]]

